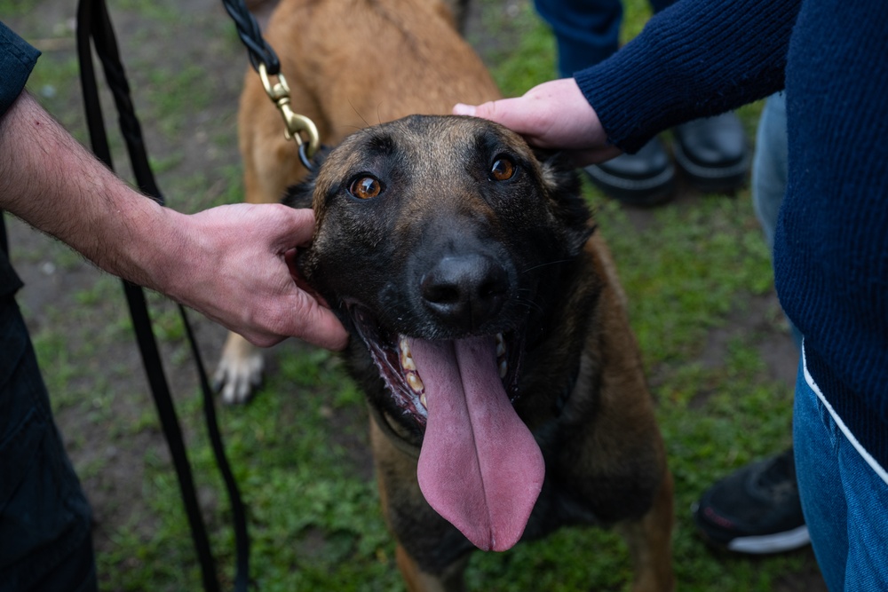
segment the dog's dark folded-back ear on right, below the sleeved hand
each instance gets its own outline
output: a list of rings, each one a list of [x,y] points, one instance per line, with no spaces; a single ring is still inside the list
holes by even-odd
[[[534,155],[540,162],[552,214],[564,225],[572,246],[579,252],[595,231],[595,224],[583,200],[583,185],[576,167],[563,152],[537,148]]]

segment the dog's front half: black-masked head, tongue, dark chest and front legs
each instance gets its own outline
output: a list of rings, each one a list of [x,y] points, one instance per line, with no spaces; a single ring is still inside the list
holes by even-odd
[[[622,526],[635,589],[671,589],[662,439],[573,172],[495,123],[415,115],[345,138],[287,202],[315,211],[299,269],[353,335],[408,588],[590,524]]]

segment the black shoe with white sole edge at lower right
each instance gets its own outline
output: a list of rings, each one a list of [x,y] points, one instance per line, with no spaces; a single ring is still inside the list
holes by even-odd
[[[781,553],[811,541],[792,448],[718,481],[691,511],[707,541],[737,553]]]

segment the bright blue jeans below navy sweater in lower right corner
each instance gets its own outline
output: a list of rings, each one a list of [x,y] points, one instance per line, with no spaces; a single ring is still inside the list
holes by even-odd
[[[817,563],[832,592],[888,590],[888,473],[818,393],[803,349],[793,441]]]

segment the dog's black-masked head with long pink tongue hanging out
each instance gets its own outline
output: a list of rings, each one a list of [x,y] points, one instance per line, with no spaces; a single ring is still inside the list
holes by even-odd
[[[371,402],[423,435],[426,499],[481,548],[519,539],[542,486],[511,399],[591,234],[557,160],[492,122],[416,115],[346,138],[288,198],[316,215],[301,273],[385,381]]]

